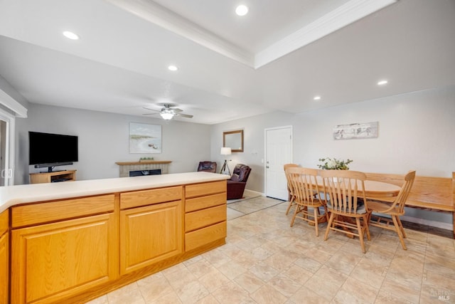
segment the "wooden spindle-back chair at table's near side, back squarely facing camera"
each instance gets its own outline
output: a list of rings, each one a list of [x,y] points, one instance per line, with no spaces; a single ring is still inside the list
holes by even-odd
[[[330,213],[326,235],[329,231],[340,231],[350,236],[358,236],[360,247],[365,253],[363,238],[370,241],[368,220],[370,209],[365,198],[365,173],[351,170],[321,170],[327,209]],[[354,222],[355,220],[355,222]]]

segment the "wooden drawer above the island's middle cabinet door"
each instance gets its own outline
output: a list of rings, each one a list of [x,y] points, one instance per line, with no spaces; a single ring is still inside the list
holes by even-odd
[[[182,187],[167,187],[120,194],[120,209],[150,204],[178,201],[182,199]]]

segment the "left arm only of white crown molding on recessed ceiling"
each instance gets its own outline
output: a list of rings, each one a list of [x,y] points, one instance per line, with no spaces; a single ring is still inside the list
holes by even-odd
[[[205,48],[220,53],[223,56],[253,67],[254,55],[243,48],[235,46],[220,36],[198,26],[181,15],[166,9],[164,6],[147,0],[107,0],[120,9],[129,11],[140,18],[165,28],[184,38],[194,41]]]

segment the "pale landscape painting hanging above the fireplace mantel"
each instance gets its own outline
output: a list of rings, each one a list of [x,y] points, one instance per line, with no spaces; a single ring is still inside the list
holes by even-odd
[[[129,122],[129,153],[161,153],[161,125]]]

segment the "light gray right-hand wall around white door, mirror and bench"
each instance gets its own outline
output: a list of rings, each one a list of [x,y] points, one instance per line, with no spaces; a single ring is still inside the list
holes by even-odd
[[[455,87],[424,90],[389,98],[351,103],[301,114],[273,112],[213,125],[213,159],[220,162],[223,131],[244,129],[245,152],[232,154],[236,163],[252,167],[247,189],[264,193],[264,129],[293,127],[293,162],[316,168],[318,159],[353,159],[350,169],[364,172],[451,177],[455,171]],[[379,122],[379,136],[363,140],[333,140],[332,128],[353,122]],[[451,223],[449,214],[407,215]]]

